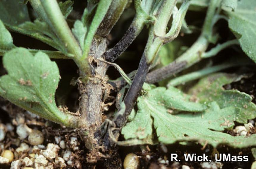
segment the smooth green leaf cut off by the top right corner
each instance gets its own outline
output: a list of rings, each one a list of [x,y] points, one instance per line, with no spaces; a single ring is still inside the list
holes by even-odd
[[[226,11],[230,19],[229,28],[238,38],[243,51],[256,62],[256,1],[237,2],[234,12]]]

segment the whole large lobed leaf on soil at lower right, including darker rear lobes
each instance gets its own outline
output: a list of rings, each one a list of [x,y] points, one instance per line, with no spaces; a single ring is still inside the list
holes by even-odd
[[[256,108],[247,94],[235,90],[225,93],[221,88],[223,84],[237,79],[237,76],[219,74],[216,77],[218,78],[210,76],[211,81],[207,81],[208,83],[204,79],[199,81],[190,92],[194,92],[192,97],[174,87],[168,90],[157,87],[148,91],[145,96],[140,96],[135,118],[122,129],[124,138],[141,139],[143,142],[143,139],[149,135],[154,135],[152,131],[155,130],[158,141],[165,144],[177,141],[198,141],[201,144],[207,142],[214,147],[219,144],[228,144],[233,147],[256,145],[256,134],[249,137],[234,137],[223,132],[224,129],[234,126],[234,121],[247,122],[247,119],[256,117]],[[233,103],[228,100],[228,97]],[[189,102],[189,98],[200,99],[201,104]],[[246,109],[245,102],[252,107]],[[209,106],[208,109],[205,109],[205,104]],[[173,114],[170,107],[192,112],[197,109],[198,112]],[[134,144],[139,143],[136,139]],[[129,144],[132,145],[132,140],[129,140]]]

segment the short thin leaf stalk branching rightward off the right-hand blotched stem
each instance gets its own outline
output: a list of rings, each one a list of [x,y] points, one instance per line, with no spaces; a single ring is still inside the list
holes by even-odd
[[[214,48],[212,48],[210,51],[205,52],[204,54],[202,54],[202,58],[208,58],[208,57],[212,57],[215,56],[216,54],[218,54],[221,50],[232,46],[232,45],[239,45],[239,42],[237,39],[234,40],[229,40],[227,42],[224,42],[222,44],[218,44],[217,46],[215,46]]]

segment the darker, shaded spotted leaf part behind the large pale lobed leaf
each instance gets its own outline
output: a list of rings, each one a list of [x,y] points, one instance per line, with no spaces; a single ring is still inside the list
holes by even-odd
[[[189,93],[200,98],[200,103],[216,101],[220,108],[236,107],[240,114],[236,117],[239,123],[247,123],[247,119],[256,117],[256,105],[252,97],[238,90],[224,90],[223,85],[239,79],[237,75],[227,73],[215,73],[202,78],[197,85],[190,89]]]

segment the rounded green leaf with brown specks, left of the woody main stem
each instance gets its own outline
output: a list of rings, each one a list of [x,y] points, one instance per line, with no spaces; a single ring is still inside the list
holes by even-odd
[[[38,52],[33,56],[25,48],[15,48],[3,56],[8,74],[0,78],[0,95],[13,104],[43,118],[70,126],[71,115],[55,104],[60,75],[55,62]]]

